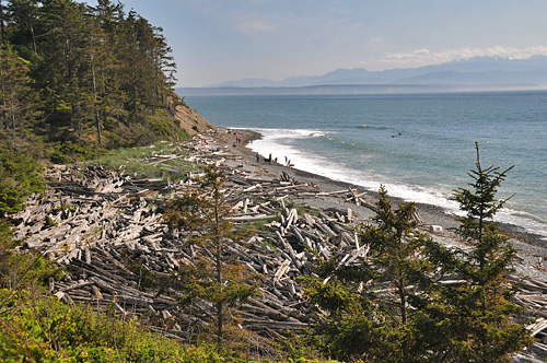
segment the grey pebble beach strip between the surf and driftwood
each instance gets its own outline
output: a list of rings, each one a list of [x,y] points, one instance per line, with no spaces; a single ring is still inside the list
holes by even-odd
[[[240,161],[235,163],[232,162],[232,167],[247,167],[258,175],[268,177],[279,177],[282,173],[286,173],[298,182],[315,184],[318,186],[319,190],[325,192],[340,189],[348,190],[348,188],[352,188],[357,190],[357,194],[363,194],[368,202],[375,203],[377,200],[376,190],[371,190],[347,182],[330,179],[326,176],[304,172],[282,164],[269,164],[263,161],[265,155],[260,155],[260,162],[257,162],[256,153],[251,150],[249,145],[254,140],[263,138],[259,132],[247,129],[217,127],[217,133],[220,136],[220,138],[216,140],[219,143],[218,147],[228,153],[240,156],[244,161],[243,165]],[[241,143],[234,148],[232,142],[235,137],[241,138]],[[397,197],[389,197],[389,199],[397,204],[405,202],[405,200]],[[322,196],[321,198],[306,198],[304,203],[310,207],[322,209],[328,209],[329,207],[350,208],[359,215],[360,220],[364,221],[374,215],[368,208],[362,206],[359,207],[352,202],[345,202],[334,197]],[[465,244],[463,244],[451,231],[451,229],[456,227],[458,224],[455,215],[449,214],[446,210],[440,206],[428,203],[416,203],[416,206],[418,214],[422,220],[420,226],[421,232],[429,233],[434,239],[446,245],[465,246]],[[500,223],[499,225],[502,233],[511,237],[511,243],[517,250],[517,258],[514,266],[515,270],[523,274],[547,281],[547,241],[545,236],[528,232],[524,227],[515,224]],[[433,226],[435,229],[440,226],[441,230],[431,232]]]

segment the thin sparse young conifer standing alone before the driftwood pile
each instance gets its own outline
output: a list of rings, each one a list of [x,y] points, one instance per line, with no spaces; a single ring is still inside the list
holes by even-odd
[[[203,298],[213,304],[217,315],[217,337],[223,341],[226,309],[244,304],[258,294],[253,283],[257,279],[244,267],[224,257],[224,245],[241,238],[225,219],[229,206],[222,192],[224,175],[214,165],[206,168],[199,189],[173,199],[164,220],[173,230],[194,232],[187,242],[208,250],[213,259],[197,258],[194,265],[182,267],[175,274],[177,288],[185,293],[181,303],[191,304]]]

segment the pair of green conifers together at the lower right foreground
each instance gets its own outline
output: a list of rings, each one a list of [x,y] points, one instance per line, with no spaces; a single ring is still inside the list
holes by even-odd
[[[455,231],[470,249],[420,234],[414,203],[394,210],[381,188],[374,224],[359,227],[366,259],[321,261],[318,274],[303,279],[321,308],[317,347],[366,362],[503,362],[529,344],[516,286],[505,279],[515,249],[492,221],[508,171],[484,169],[477,145],[474,182],[454,195],[467,213]],[[461,281],[439,283],[443,276]]]

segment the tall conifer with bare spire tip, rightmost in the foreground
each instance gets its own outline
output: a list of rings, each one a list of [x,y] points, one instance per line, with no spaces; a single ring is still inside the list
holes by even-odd
[[[439,261],[464,282],[440,291],[438,320],[430,327],[432,340],[442,337],[434,348],[437,362],[503,362],[531,342],[521,321],[524,309],[513,301],[516,286],[505,278],[516,250],[493,221],[507,202],[496,195],[512,167],[482,168],[478,143],[476,150],[475,169],[468,173],[473,183],[454,192],[466,213],[455,232],[472,248]]]

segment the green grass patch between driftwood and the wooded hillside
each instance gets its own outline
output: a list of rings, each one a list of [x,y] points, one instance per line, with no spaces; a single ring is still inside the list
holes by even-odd
[[[175,155],[174,159],[162,157]],[[161,141],[151,147],[121,148],[91,161],[90,164],[106,165],[114,171],[123,171],[143,178],[162,178],[178,182],[186,178],[188,172],[196,172],[200,166],[186,161],[188,152],[171,142]]]

